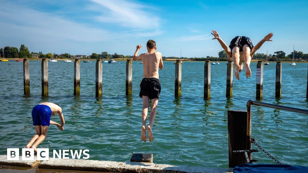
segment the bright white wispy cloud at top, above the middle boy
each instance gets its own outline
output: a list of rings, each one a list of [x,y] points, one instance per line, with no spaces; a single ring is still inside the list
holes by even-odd
[[[100,15],[95,19],[134,29],[159,30],[160,18],[150,6],[125,0],[91,0],[98,4]]]

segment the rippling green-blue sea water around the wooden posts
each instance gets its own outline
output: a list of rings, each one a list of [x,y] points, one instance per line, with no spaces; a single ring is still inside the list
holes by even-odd
[[[182,96],[178,98],[174,97],[175,65],[164,62],[159,71],[162,90],[154,139],[144,143],[139,98],[143,65],[133,61],[133,94],[126,96],[126,62],[118,62],[103,64],[100,99],[95,98],[95,61],[81,62],[80,96],[73,95],[74,63],[48,62],[49,97],[41,96],[41,61],[30,61],[30,97],[23,95],[22,62],[0,62],[0,154],[6,155],[6,148],[25,147],[35,134],[32,108],[53,102],[63,109],[64,131],[51,126],[39,147],[88,149],[93,160],[126,162],[132,153],[153,153],[153,162],[158,164],[228,167],[227,110],[246,110],[246,102],[255,100],[257,63],[251,63],[251,78],[241,72],[240,81],[233,79],[231,99],[225,98],[226,62],[212,65],[212,98],[204,101],[204,62],[182,64]],[[281,99],[275,99],[275,64],[264,66],[262,101],[307,109],[307,64],[282,63]],[[51,120],[60,122],[57,115]],[[252,137],[280,162],[307,166],[307,115],[253,106]],[[257,147],[252,144],[252,148]],[[262,151],[252,156],[258,163],[275,164]]]

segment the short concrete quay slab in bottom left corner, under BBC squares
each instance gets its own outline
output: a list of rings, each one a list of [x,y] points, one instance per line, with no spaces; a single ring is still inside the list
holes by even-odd
[[[36,156],[34,156],[33,160],[21,160],[21,156],[19,156],[19,160],[7,160],[6,155],[0,155],[0,165],[7,166],[16,166],[16,167],[36,167],[40,160],[36,160]]]

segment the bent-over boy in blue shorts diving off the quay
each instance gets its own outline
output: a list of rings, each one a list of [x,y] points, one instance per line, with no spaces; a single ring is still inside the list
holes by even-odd
[[[61,125],[54,121],[50,120],[51,115],[59,114]],[[63,130],[64,126],[64,117],[62,109],[57,103],[40,103],[32,109],[32,120],[33,126],[35,128],[36,134],[32,137],[30,142],[26,145],[26,148],[34,148],[36,153],[36,147],[43,142],[47,136],[49,124],[54,124],[58,127],[59,130]]]

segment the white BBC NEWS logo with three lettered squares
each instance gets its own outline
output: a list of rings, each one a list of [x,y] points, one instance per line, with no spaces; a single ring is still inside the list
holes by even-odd
[[[89,159],[89,150],[53,150],[53,158],[59,159]],[[69,155],[71,154],[71,158]],[[7,148],[7,160],[19,160],[19,148]],[[22,160],[34,160],[33,148],[22,148]],[[37,160],[49,160],[49,148],[37,148]]]

